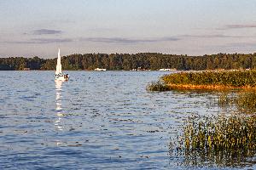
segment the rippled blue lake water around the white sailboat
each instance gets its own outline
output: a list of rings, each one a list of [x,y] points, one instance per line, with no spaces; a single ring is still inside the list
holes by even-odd
[[[0,71],[0,169],[197,168],[170,142],[188,116],[219,112],[216,95],[146,91],[167,72],[67,73]]]

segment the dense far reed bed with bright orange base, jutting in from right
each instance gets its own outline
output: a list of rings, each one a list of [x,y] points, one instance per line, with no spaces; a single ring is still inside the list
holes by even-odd
[[[161,77],[160,81],[170,90],[256,88],[256,70],[178,72]]]

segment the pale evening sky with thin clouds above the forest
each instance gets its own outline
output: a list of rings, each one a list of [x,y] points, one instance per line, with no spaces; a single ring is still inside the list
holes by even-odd
[[[256,52],[256,0],[0,0],[0,57]]]

